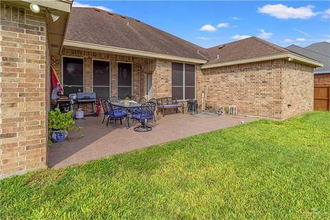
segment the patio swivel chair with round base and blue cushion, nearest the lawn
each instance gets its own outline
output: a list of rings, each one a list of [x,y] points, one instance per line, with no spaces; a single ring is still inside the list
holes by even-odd
[[[150,120],[153,120],[153,112],[155,111],[155,104],[153,102],[146,102],[142,104],[140,113],[133,113],[132,119],[138,120],[141,124],[135,126],[134,131],[146,132],[151,131],[153,128],[148,126],[147,123]]]

